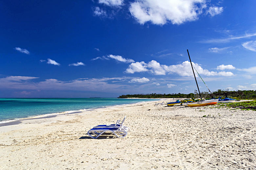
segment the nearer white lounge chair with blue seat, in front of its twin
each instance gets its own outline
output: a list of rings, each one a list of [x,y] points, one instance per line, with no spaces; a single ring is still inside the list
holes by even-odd
[[[110,131],[110,132],[114,133],[114,135],[116,135],[118,138],[123,138],[123,137],[125,137],[125,136],[128,134],[128,130],[123,127],[123,122],[124,122],[125,118],[126,118],[126,116],[124,116],[122,123],[121,123],[120,126],[117,127],[117,128],[114,128],[114,127],[92,128],[92,129],[90,129],[90,130],[87,132],[87,134],[88,134],[91,138],[96,139],[96,138],[98,138],[101,134],[103,134],[103,133],[105,133],[105,132],[107,132],[107,131]],[[90,133],[92,133],[92,134],[90,134]],[[117,134],[118,134],[119,136],[118,136]],[[92,136],[92,135],[96,135],[96,136]]]

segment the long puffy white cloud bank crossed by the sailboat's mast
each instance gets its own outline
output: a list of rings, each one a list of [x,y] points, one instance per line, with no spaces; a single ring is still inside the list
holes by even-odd
[[[233,76],[231,72],[214,72],[203,69],[199,64],[193,63],[194,67],[200,75],[204,76]],[[159,62],[152,60],[148,63],[144,61],[131,63],[126,69],[126,73],[146,72],[149,71],[154,75],[178,74],[179,76],[193,76],[191,65],[189,61],[184,61],[176,65],[161,65]]]

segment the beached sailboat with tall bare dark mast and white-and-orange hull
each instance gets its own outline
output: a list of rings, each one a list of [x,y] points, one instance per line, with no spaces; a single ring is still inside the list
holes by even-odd
[[[191,59],[190,59],[190,56],[189,56],[189,53],[188,53],[188,50],[187,50],[187,54],[188,54],[188,57],[189,57],[189,60],[190,60],[190,64],[191,64],[191,67],[192,67],[192,70],[193,70],[193,74],[194,74],[194,77],[195,77],[195,80],[196,80],[196,84],[197,84],[197,79],[196,79],[196,76],[195,76],[195,72],[194,72],[194,69],[193,69],[193,65],[192,65],[192,62],[191,62]],[[199,75],[200,76],[200,75]],[[202,79],[202,77],[201,77]],[[203,79],[202,79],[203,80]],[[203,81],[204,82],[204,81]],[[204,83],[205,84],[205,83]],[[206,84],[205,84],[206,85]],[[207,86],[206,86],[207,87]],[[208,87],[207,87],[208,88]],[[197,84],[197,89],[198,89],[198,92],[199,92],[199,95],[200,95],[200,98],[202,99],[202,96],[201,96],[201,93],[200,93],[200,90],[199,90],[199,87],[198,87],[198,84]],[[209,88],[208,88],[209,90]],[[209,90],[210,91],[210,90]],[[198,106],[208,106],[208,105],[215,105],[217,104],[219,101],[219,99],[210,99],[210,100],[201,100],[201,101],[197,101],[197,102],[190,102],[190,103],[181,103],[182,106],[188,106],[188,107],[198,107]]]

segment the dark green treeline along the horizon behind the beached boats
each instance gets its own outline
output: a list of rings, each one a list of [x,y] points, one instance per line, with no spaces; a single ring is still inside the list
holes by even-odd
[[[213,94],[208,92],[201,92],[201,96],[205,98],[212,97],[233,97],[237,99],[256,99],[256,90],[237,90],[237,91],[228,91],[226,90],[217,90]],[[183,94],[183,93],[169,93],[169,94],[126,94],[120,95],[117,98],[192,98],[194,93]],[[198,96],[199,97],[199,96]],[[195,97],[197,98],[197,96]]]

